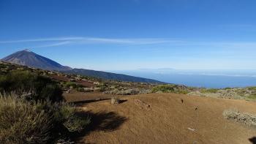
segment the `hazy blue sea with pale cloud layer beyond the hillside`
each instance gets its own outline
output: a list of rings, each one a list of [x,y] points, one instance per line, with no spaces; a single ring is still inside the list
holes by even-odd
[[[256,70],[138,69],[112,72],[205,88],[256,86]]]

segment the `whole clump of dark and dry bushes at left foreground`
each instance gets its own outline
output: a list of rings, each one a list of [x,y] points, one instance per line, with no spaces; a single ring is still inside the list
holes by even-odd
[[[49,143],[90,123],[64,102],[57,81],[42,76],[49,72],[35,71],[7,69],[0,75],[0,143]]]

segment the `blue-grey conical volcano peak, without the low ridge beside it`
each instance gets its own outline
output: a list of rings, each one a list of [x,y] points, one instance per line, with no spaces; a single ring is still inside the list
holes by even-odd
[[[34,67],[39,69],[56,70],[56,71],[64,71],[64,70],[71,69],[70,67],[62,66],[56,61],[50,60],[49,58],[45,58],[43,56],[39,56],[37,55],[37,53],[33,53],[29,50],[18,51],[1,60],[10,62],[13,64],[20,64],[23,66]]]

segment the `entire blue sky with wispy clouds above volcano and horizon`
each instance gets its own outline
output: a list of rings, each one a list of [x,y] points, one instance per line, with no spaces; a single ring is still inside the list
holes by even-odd
[[[0,1],[0,58],[29,48],[70,67],[256,69],[256,1]]]

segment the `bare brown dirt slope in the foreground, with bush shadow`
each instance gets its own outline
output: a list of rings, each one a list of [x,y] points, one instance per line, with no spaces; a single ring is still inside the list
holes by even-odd
[[[120,105],[110,105],[110,100],[104,100],[80,106],[94,113],[94,126],[78,142],[246,144],[256,137],[256,128],[227,121],[222,116],[223,110],[232,107],[256,113],[255,102],[181,94],[146,94],[122,99],[127,101]]]

